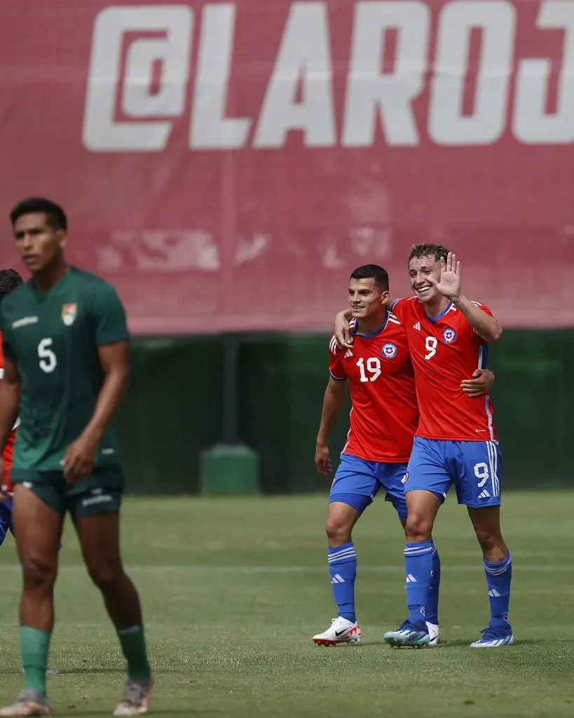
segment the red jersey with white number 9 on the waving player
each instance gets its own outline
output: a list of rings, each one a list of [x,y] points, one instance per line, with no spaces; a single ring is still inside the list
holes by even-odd
[[[493,314],[484,304],[474,302]],[[403,322],[415,368],[420,423],[417,436],[447,441],[484,442],[497,438],[490,396],[469,398],[461,381],[486,368],[489,345],[476,335],[454,304],[427,317],[416,297],[398,299],[392,311]]]

